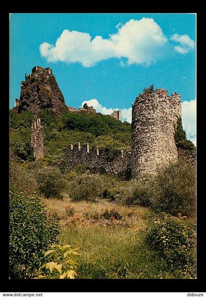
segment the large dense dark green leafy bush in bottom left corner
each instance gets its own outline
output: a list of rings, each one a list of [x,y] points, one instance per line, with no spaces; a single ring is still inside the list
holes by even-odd
[[[44,252],[57,243],[58,217],[47,212],[36,196],[10,187],[9,272],[11,278],[31,278],[44,261]]]

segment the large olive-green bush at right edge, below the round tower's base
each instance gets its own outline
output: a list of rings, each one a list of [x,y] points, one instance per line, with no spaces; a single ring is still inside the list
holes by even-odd
[[[196,175],[185,161],[159,171],[154,188],[153,209],[192,217],[196,209]]]

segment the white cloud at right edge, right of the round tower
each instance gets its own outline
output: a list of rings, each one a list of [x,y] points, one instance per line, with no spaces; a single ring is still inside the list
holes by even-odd
[[[181,115],[187,138],[196,145],[196,99],[181,103]]]

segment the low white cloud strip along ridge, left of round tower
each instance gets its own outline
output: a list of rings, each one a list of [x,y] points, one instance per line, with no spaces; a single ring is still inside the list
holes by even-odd
[[[91,100],[83,101],[81,106],[83,106],[84,103],[87,103],[88,106],[93,106],[93,108],[95,108],[96,111],[98,113],[101,113],[101,114],[112,114],[113,111],[115,111],[115,110],[121,110],[122,120],[131,123],[131,107],[129,107],[128,109],[127,108],[123,108],[123,109],[120,109],[120,108],[106,108],[106,107],[103,107],[102,104],[100,104],[97,99],[91,99]]]

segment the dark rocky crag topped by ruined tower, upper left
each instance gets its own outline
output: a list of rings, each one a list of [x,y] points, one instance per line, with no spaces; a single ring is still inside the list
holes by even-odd
[[[20,100],[15,103],[19,113],[30,110],[35,115],[44,109],[56,114],[62,114],[68,109],[52,69],[40,66],[35,66],[31,74],[25,74],[25,81],[21,82]]]

